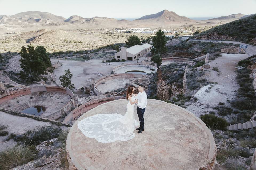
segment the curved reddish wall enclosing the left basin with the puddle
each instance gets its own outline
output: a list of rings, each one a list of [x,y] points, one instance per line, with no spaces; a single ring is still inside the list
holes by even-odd
[[[57,120],[63,114],[71,111],[71,109],[73,107],[78,106],[78,96],[74,95],[70,89],[68,89],[66,87],[62,87],[62,86],[50,86],[50,85],[32,86],[32,87],[23,88],[23,89],[14,90],[14,91],[5,93],[0,96],[0,104],[8,101],[10,99],[13,99],[15,97],[19,97],[20,95],[29,95],[31,93],[37,93],[37,92],[59,92],[59,93],[64,93],[66,95],[69,95],[71,97],[70,101],[64,107],[62,107],[59,111],[57,111],[49,116],[46,116],[45,117],[46,119]],[[21,114],[23,114],[23,113],[21,113]]]

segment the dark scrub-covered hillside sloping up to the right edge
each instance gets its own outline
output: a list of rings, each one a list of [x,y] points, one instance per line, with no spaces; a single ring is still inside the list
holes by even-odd
[[[256,14],[232,21],[191,37],[202,40],[232,40],[256,45]]]

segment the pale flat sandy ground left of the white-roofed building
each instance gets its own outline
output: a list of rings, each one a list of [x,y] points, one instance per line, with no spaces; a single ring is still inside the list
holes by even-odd
[[[144,57],[139,58],[140,61]],[[51,59],[52,64],[58,62],[58,59]],[[75,88],[78,89],[81,86],[91,85],[91,78],[95,80],[101,78],[102,76],[110,75],[113,68],[117,65],[137,63],[137,61],[125,61],[125,62],[113,62],[110,65],[102,63],[102,60],[92,59],[86,62],[82,61],[71,61],[71,60],[59,60],[62,64],[61,67],[54,70],[54,75],[56,78],[57,85],[61,85],[59,82],[59,76],[64,74],[64,70],[70,69],[73,74],[72,83],[75,84]]]

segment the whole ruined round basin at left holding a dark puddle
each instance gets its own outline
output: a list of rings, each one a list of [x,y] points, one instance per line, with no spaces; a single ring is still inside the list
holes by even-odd
[[[44,85],[22,88],[0,96],[0,108],[5,112],[28,115],[22,110],[34,106],[43,106],[46,110],[40,116],[29,114],[30,117],[58,120],[78,106],[78,97],[68,88]]]

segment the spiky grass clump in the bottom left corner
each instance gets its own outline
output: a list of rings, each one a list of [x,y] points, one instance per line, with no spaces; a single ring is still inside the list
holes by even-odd
[[[35,150],[31,146],[18,145],[8,147],[0,152],[0,169],[8,170],[23,165],[35,158]]]

